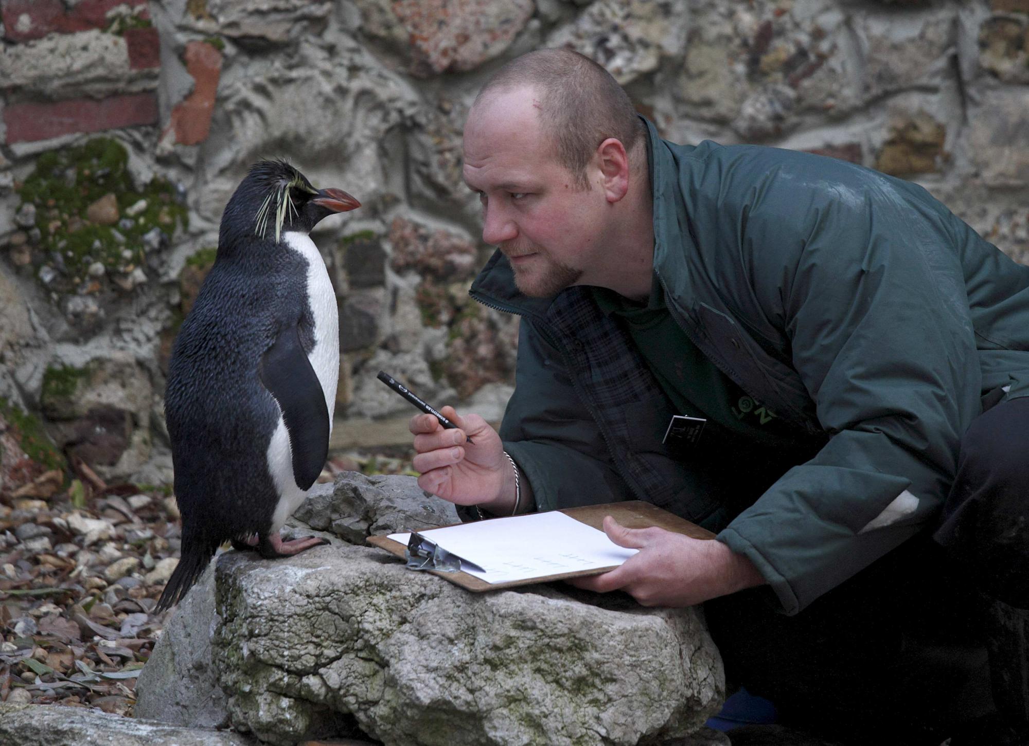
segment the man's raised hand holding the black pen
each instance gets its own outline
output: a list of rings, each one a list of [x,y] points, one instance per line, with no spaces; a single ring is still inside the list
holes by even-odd
[[[453,407],[439,412],[460,430],[443,428],[431,414],[415,415],[409,424],[417,451],[412,465],[421,472],[418,486],[459,506],[509,513],[514,473],[500,436],[477,414],[459,417]]]

